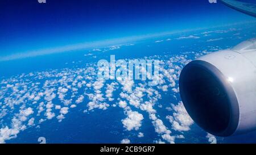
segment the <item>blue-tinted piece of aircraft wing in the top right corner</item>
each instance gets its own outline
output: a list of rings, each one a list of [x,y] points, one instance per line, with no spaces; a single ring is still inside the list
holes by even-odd
[[[226,6],[231,7],[237,11],[243,12],[244,14],[256,17],[256,3],[245,3],[235,0],[220,0]]]

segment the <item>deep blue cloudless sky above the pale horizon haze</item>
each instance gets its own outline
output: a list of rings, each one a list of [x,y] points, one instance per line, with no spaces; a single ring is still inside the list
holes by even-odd
[[[254,20],[208,0],[46,1],[40,4],[37,0],[1,0],[0,56]]]

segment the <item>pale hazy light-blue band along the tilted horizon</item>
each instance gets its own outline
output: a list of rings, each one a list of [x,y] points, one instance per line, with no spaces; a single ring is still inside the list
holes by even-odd
[[[250,20],[250,21],[247,21],[247,22],[224,24],[224,25],[221,25],[221,26],[193,28],[193,29],[185,29],[185,30],[179,30],[179,31],[167,31],[167,32],[151,33],[151,34],[139,35],[139,36],[127,36],[127,37],[120,37],[120,38],[116,38],[116,39],[107,39],[107,40],[100,40],[100,41],[89,41],[89,42],[79,43],[79,44],[64,45],[64,46],[61,46],[61,47],[38,49],[38,50],[35,50],[35,51],[18,52],[18,53],[14,53],[14,54],[11,54],[11,55],[0,56],[0,62],[17,60],[17,59],[28,58],[28,57],[51,55],[51,54],[54,54],[54,53],[75,52],[75,51],[81,51],[81,50],[93,49],[93,48],[104,48],[104,47],[106,48],[106,47],[111,47],[111,46],[114,46],[114,45],[125,45],[125,44],[128,44],[128,43],[133,43],[134,41],[146,40],[146,39],[150,39],[152,37],[175,35],[175,34],[184,33],[184,32],[208,30],[210,28],[236,26],[236,25],[240,25],[240,24],[249,24],[249,23],[256,23],[256,21],[255,20]]]

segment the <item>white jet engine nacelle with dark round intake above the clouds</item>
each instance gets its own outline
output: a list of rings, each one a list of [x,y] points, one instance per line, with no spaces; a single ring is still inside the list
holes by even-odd
[[[189,62],[180,95],[191,118],[216,136],[256,129],[256,38]]]

